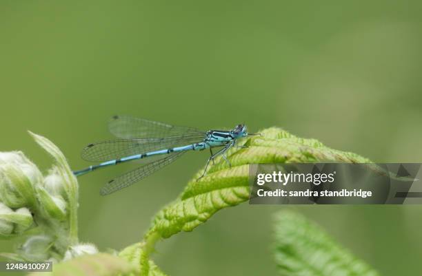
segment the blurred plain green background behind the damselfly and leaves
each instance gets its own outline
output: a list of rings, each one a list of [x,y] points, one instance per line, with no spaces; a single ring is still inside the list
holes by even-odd
[[[421,1],[1,1],[1,151],[74,169],[84,145],[111,138],[130,114],[200,129],[247,123],[354,151],[421,162]],[[208,153],[189,154],[107,197],[135,164],[80,179],[80,237],[101,250],[137,242]],[[249,206],[225,209],[159,244],[170,275],[277,275],[271,215],[293,208],[382,275],[421,272],[421,206]],[[0,242],[1,251],[12,248]]]

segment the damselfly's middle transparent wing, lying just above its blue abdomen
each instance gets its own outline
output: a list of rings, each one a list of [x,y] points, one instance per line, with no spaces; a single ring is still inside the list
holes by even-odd
[[[134,156],[140,153],[181,147],[201,142],[205,134],[185,134],[166,138],[137,138],[108,140],[90,144],[82,150],[82,158],[87,161],[101,162]]]

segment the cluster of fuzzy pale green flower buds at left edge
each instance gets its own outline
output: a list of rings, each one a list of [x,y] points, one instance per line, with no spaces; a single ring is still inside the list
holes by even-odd
[[[56,162],[43,176],[21,151],[0,152],[0,238],[26,237],[15,253],[0,255],[35,262],[97,253],[77,238],[78,185],[66,158],[50,140],[32,136]]]

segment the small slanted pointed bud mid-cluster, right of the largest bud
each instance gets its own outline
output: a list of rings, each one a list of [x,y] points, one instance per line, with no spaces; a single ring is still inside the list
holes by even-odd
[[[48,215],[56,220],[66,220],[66,201],[58,196],[52,196],[42,187],[38,189],[39,202]]]

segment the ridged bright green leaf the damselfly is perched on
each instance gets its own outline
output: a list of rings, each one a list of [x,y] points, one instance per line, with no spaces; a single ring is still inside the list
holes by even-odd
[[[192,231],[217,211],[245,202],[249,198],[248,164],[285,162],[370,162],[354,153],[325,147],[314,139],[298,138],[272,127],[261,136],[244,139],[243,149],[231,149],[228,164],[219,158],[208,175],[197,182],[202,170],[185,187],[179,198],[155,216],[150,231],[167,238],[180,231]]]

